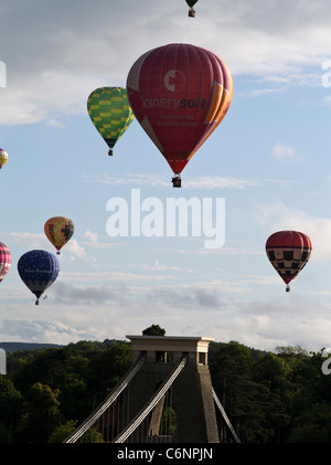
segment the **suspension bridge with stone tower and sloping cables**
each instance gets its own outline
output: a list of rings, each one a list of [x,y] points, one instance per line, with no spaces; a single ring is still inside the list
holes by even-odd
[[[213,339],[127,336],[131,367],[64,441],[109,443],[239,443],[211,381]]]

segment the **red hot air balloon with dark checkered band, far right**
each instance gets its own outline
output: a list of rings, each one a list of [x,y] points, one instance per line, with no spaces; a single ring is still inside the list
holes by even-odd
[[[287,292],[290,290],[289,283],[309,261],[311,250],[308,235],[298,231],[279,231],[268,237],[267,256],[287,285]]]

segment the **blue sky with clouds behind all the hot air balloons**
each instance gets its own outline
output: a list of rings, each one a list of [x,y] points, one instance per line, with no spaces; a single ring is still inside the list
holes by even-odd
[[[0,341],[124,339],[158,324],[167,335],[259,349],[331,347],[331,6],[200,0],[195,10],[188,18],[184,0],[1,6],[0,146],[9,161],[0,241],[13,263],[0,285]],[[171,42],[211,50],[234,80],[229,110],[183,170],[181,190],[136,120],[110,158],[86,110],[93,89],[125,86],[137,57]],[[130,204],[132,189],[163,204],[225,199],[224,246],[109,237],[106,204]],[[17,263],[29,250],[54,252],[43,232],[54,215],[71,218],[75,234],[35,306]],[[290,293],[265,255],[267,237],[286,229],[313,245]]]

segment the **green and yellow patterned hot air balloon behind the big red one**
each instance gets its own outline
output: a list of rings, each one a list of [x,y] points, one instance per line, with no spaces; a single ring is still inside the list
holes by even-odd
[[[99,87],[87,99],[88,115],[109,147],[108,155],[132,123],[135,116],[129,106],[127,91],[121,87]]]

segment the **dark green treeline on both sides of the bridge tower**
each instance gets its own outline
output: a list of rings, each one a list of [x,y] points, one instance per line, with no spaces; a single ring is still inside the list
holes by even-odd
[[[331,442],[331,376],[321,352],[263,352],[212,342],[213,387],[243,443]],[[0,442],[60,443],[105,399],[131,362],[130,344],[79,341],[7,353]]]

